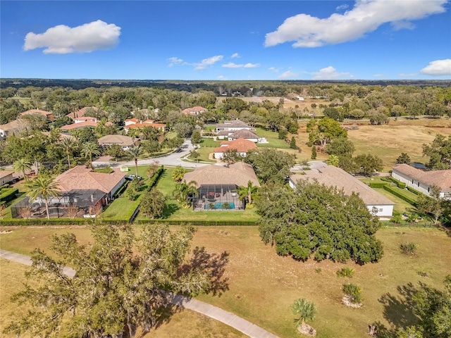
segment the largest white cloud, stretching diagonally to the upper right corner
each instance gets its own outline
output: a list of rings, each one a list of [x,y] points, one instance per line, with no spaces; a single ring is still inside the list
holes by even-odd
[[[294,47],[319,47],[359,39],[384,23],[392,23],[397,29],[412,27],[407,25],[410,20],[443,13],[446,3],[447,0],[358,0],[350,11],[333,13],[324,19],[298,14],[266,34],[265,46],[294,41]]]

